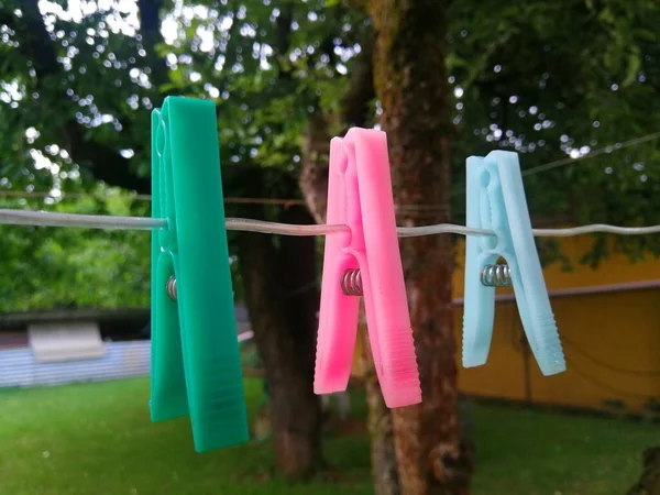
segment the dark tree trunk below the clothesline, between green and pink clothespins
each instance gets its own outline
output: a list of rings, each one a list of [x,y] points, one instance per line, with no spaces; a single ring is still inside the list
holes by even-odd
[[[252,183],[258,178],[252,175]],[[265,219],[264,207],[250,217]],[[310,223],[302,207],[280,211],[278,221]],[[321,409],[314,394],[317,288],[314,238],[240,232],[239,263],[245,301],[268,385],[278,470],[305,477],[322,463]]]

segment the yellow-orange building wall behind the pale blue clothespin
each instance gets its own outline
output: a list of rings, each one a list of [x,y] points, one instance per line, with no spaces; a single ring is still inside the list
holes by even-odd
[[[592,242],[588,235],[561,240],[562,253],[572,261],[573,270],[562,272],[558,263],[544,270],[568,364],[565,373],[550,377],[541,375],[524,343],[518,309],[510,298],[496,302],[486,364],[462,367],[464,243],[457,244],[453,297],[461,392],[606,410],[612,408],[605,402],[616,400],[635,413],[644,411],[651,397],[660,400],[660,261],[630,263],[615,254],[592,270],[578,263]],[[645,282],[657,287],[640,288]],[[565,294],[585,287],[597,293]],[[507,294],[510,289],[498,290],[505,298]]]

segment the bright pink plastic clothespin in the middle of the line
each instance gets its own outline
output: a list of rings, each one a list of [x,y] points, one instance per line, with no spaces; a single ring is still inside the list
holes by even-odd
[[[351,129],[330,142],[326,238],[315,393],[345,391],[364,295],[369,337],[387,407],[421,402],[384,132]]]

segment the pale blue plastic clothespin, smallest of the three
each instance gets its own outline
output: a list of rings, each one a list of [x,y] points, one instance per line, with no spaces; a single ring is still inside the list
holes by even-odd
[[[495,235],[469,235],[466,240],[463,365],[480,366],[488,358],[495,287],[485,286],[483,275],[503,257],[508,264],[527,340],[541,372],[553,375],[565,371],[517,153],[494,151],[485,158],[468,158],[466,213],[468,227],[493,230]]]

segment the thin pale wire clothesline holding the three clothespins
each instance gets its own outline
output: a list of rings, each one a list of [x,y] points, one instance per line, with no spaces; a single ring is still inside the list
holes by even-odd
[[[280,235],[328,235],[337,232],[348,232],[348,226],[320,224],[299,226],[292,223],[276,223],[245,218],[227,218],[227,230],[271,233]],[[165,218],[146,217],[112,217],[103,215],[53,213],[47,211],[26,211],[0,209],[0,223],[14,226],[41,227],[78,227],[106,230],[161,230],[167,228]],[[424,227],[398,227],[399,238],[414,238],[419,235],[435,235],[440,233],[455,233],[460,235],[493,235],[485,229],[472,229],[451,223],[438,223]],[[572,227],[566,229],[532,229],[536,237],[564,238],[586,233],[613,233],[618,235],[642,235],[660,233],[660,226],[649,227],[616,227],[604,223]]]

